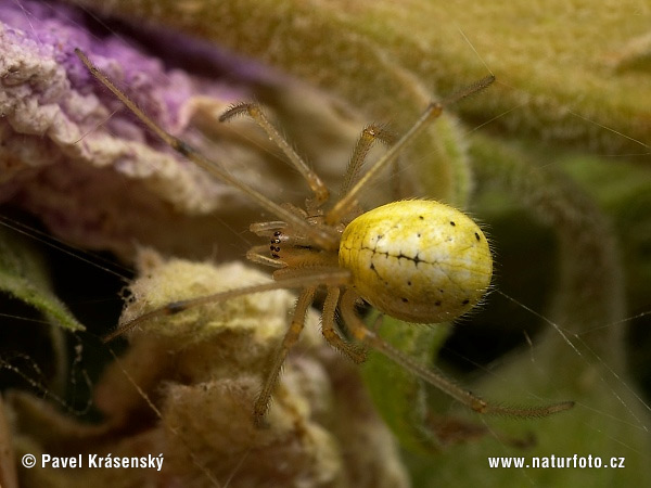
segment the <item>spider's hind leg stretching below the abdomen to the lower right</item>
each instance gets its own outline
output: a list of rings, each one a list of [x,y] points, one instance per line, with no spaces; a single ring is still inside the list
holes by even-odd
[[[540,418],[562,412],[574,406],[573,401],[563,401],[542,407],[507,407],[488,403],[472,391],[462,388],[445,377],[442,372],[414,361],[368,329],[355,313],[355,301],[358,298],[359,295],[354,290],[348,290],[344,293],[340,305],[340,310],[342,311],[346,325],[348,325],[350,333],[356,339],[373,347],[392,361],[406,370],[411,371],[413,374],[420,376],[425,382],[437,387],[477,413],[500,414],[516,418]]]

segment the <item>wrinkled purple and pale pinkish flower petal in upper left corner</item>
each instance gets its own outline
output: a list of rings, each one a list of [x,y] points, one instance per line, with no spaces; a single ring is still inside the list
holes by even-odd
[[[218,113],[240,92],[166,69],[115,35],[99,38],[85,15],[56,3],[0,4],[0,203],[26,208],[68,240],[124,253],[135,241],[162,239],[175,248],[178,242],[157,237],[163,222],[176,222],[177,235],[193,232],[206,222],[184,214],[232,200],[232,190],[153,137],[74,49],[175,134],[183,134],[196,110]]]

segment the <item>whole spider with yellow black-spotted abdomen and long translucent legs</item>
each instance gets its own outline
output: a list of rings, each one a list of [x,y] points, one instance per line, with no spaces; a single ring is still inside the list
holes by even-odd
[[[376,141],[390,142],[381,127],[368,126],[357,141],[334,204],[330,203],[330,191],[319,176],[292,149],[257,104],[240,103],[227,110],[220,121],[239,115],[253,118],[307,181],[311,196],[306,200],[305,208],[298,208],[272,202],[165,131],[82,51],[76,49],[75,53],[90,73],[165,143],[213,177],[239,189],[278,218],[251,226],[253,233],[267,237],[269,243],[254,246],[246,254],[251,261],[275,268],[275,281],[168,304],[119,325],[104,341],[111,341],[155,317],[179,313],[196,305],[271,290],[301,290],[291,325],[273,356],[253,408],[254,423],[264,426],[282,364],[299,337],[317,290],[324,288],[323,336],[356,363],[365,360],[368,347],[373,348],[478,413],[532,418],[547,416],[573,407],[572,401],[528,408],[489,403],[446,378],[439,371],[420,364],[393,347],[368,328],[356,312],[356,306],[366,301],[382,313],[408,322],[451,321],[474,307],[488,290],[493,274],[490,249],[486,236],[470,217],[431,200],[398,201],[363,213],[357,200],[369,181],[439,117],[445,106],[484,90],[494,81],[493,76],[470,85],[443,102],[430,103],[413,126],[358,178],[371,146]],[[353,341],[337,332],[337,310]]]

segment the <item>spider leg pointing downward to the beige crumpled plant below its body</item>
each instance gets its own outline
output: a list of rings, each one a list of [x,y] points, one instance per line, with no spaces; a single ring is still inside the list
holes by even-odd
[[[273,355],[271,368],[267,373],[267,378],[265,380],[263,389],[260,390],[253,407],[253,421],[256,427],[265,427],[267,425],[265,422],[265,414],[267,413],[267,410],[269,410],[271,394],[273,393],[273,388],[278,383],[280,370],[288,357],[288,354],[296,344],[296,341],[298,341],[298,336],[305,326],[305,316],[308,307],[311,305],[315,298],[316,290],[316,286],[306,287],[296,300],[296,309],[294,310],[292,324],[290,325],[290,329],[288,329],[280,347]]]

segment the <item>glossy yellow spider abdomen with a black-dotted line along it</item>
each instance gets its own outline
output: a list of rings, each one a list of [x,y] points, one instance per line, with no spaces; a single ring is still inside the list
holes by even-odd
[[[419,323],[470,310],[493,274],[480,227],[456,208],[425,200],[394,202],[357,217],[344,230],[339,261],[369,304]]]

